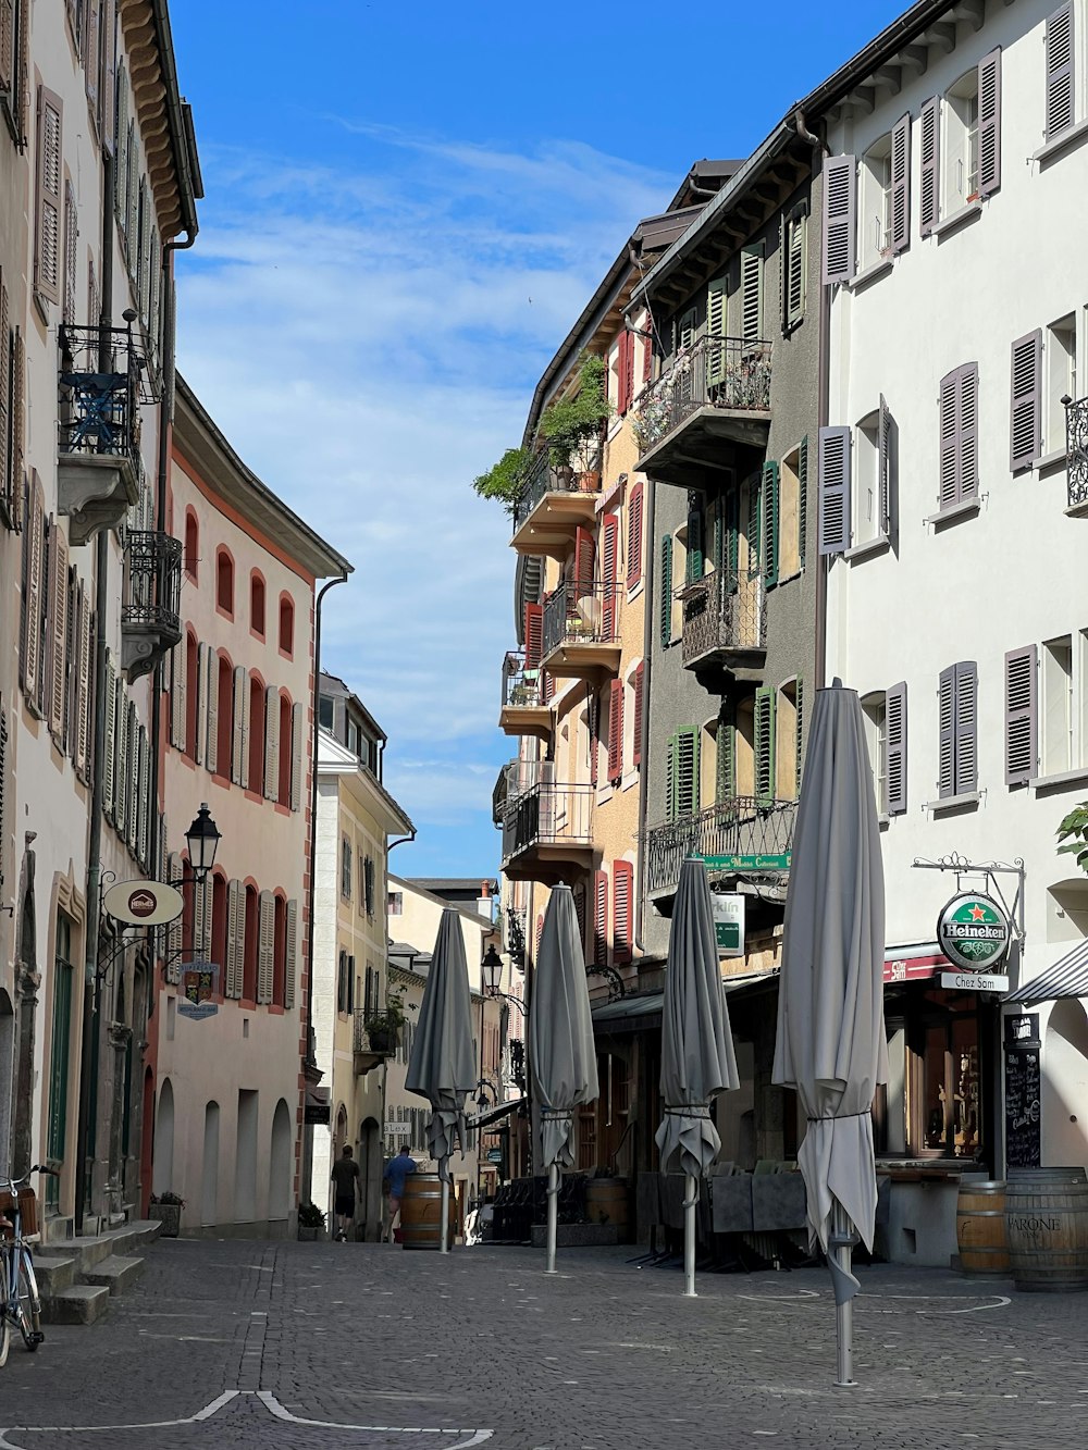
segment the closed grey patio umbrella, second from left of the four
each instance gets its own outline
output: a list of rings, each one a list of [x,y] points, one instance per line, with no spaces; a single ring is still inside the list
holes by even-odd
[[[574,1166],[570,1141],[574,1108],[595,1102],[598,1095],[586,958],[569,886],[553,890],[544,914],[529,1002],[529,1067],[540,1103],[543,1161],[548,1170],[545,1273],[554,1273],[559,1174]]]

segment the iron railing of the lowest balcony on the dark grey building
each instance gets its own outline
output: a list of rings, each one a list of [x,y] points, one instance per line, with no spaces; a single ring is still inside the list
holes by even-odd
[[[647,890],[676,886],[689,856],[728,858],[722,870],[780,874],[789,869],[795,819],[796,800],[731,796],[698,815],[651,826],[646,841]]]

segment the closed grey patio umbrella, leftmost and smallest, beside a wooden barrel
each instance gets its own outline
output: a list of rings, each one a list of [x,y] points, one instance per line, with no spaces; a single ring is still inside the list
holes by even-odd
[[[476,1086],[471,998],[460,916],[450,906],[438,922],[419,1024],[408,1060],[405,1088],[431,1103],[426,1141],[442,1183],[441,1253],[448,1251],[450,1154],[464,1151],[464,1096]]]

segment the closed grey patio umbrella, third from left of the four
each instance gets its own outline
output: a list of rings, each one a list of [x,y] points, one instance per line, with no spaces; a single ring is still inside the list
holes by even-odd
[[[699,1179],[721,1147],[711,1121],[720,1092],[740,1088],[733,1035],[721,989],[706,867],[692,858],[680,867],[662,1014],[662,1098],[657,1130],[662,1173],[676,1159],[686,1176],[683,1196],[683,1292],[695,1295],[695,1205]]]

